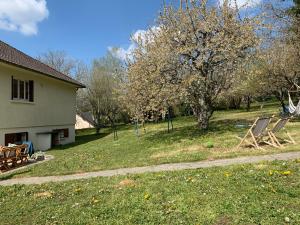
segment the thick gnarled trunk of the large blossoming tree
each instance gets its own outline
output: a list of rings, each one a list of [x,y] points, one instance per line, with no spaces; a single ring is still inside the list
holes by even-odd
[[[193,106],[193,111],[197,117],[198,127],[202,130],[207,130],[209,119],[213,114],[212,106],[204,100],[200,100],[197,106]]]

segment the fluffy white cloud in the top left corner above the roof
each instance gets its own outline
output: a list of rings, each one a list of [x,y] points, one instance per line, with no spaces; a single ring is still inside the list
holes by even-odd
[[[46,0],[0,0],[0,29],[24,35],[38,33],[37,24],[49,15]]]

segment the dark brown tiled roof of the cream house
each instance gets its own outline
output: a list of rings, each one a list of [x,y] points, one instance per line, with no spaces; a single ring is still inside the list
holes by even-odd
[[[18,49],[4,43],[0,40],[0,62],[12,64],[23,69],[38,72],[42,75],[62,80],[77,87],[84,88],[85,86],[71,77],[53,69],[52,67],[36,60],[29,55],[19,51]]]

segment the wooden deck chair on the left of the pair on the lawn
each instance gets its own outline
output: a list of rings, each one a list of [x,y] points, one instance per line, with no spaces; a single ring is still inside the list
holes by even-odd
[[[267,127],[270,124],[272,118],[273,117],[257,118],[243,138],[237,137],[238,139],[241,140],[237,148],[241,147],[242,144],[247,143],[256,149],[263,149],[262,147],[259,146],[259,143],[262,141],[263,137],[267,134]]]

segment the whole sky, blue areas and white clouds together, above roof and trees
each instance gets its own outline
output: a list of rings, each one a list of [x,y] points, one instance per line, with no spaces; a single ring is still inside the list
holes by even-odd
[[[59,50],[90,63],[119,47],[122,58],[133,48],[130,36],[154,26],[161,8],[162,0],[0,0],[0,40],[33,57]]]

